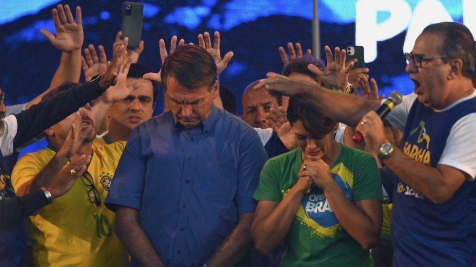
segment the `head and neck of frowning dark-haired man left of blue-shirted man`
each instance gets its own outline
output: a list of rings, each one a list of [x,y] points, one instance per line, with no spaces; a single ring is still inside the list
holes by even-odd
[[[96,139],[94,146],[127,141],[134,128],[152,118],[157,97],[158,84],[143,79],[142,76],[151,72],[140,64],[131,64],[127,74],[126,85],[133,90],[121,101],[115,102],[109,110],[109,132]],[[93,107],[93,109],[95,109]]]

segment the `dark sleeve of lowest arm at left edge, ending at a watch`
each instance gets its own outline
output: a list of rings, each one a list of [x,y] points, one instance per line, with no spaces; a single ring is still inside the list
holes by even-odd
[[[0,230],[19,222],[46,205],[48,205],[48,199],[41,189],[26,196],[0,200]]]

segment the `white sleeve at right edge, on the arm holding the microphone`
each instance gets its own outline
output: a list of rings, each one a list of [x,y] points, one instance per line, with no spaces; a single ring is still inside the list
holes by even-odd
[[[452,166],[476,176],[476,113],[459,119],[451,128],[438,164]]]

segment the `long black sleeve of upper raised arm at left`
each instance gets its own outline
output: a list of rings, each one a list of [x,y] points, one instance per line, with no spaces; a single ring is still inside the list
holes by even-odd
[[[103,92],[104,90],[99,87],[99,80],[87,82],[59,92],[57,95],[16,114],[18,129],[13,139],[13,149],[59,123],[76,112],[79,107],[98,98]]]

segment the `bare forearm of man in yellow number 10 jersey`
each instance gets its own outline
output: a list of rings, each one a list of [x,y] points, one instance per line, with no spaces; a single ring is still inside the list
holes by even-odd
[[[25,194],[28,194],[40,189],[43,186],[49,186],[67,161],[68,160],[65,157],[56,154],[55,157],[53,157],[53,159],[48,162],[48,165],[46,165],[43,170],[41,170],[41,172],[33,179],[29,188],[23,188],[21,191],[23,191]],[[25,184],[25,186],[28,185]]]

